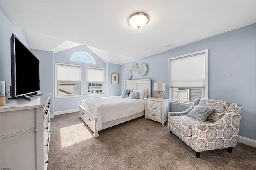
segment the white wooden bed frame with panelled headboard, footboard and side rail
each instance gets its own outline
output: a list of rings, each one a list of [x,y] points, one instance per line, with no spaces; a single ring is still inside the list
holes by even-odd
[[[126,89],[148,89],[148,97],[151,97],[151,80],[150,79],[140,79],[140,80],[124,80],[124,88]],[[93,131],[93,136],[98,137],[99,132],[96,129],[96,123],[97,123],[97,116],[87,110],[82,105],[79,105],[79,117],[90,127],[90,129]],[[108,127],[112,127],[115,125],[118,125],[120,123],[124,123],[126,121],[136,119],[138,117],[141,117],[145,115],[145,111],[142,111],[140,113],[137,113],[135,115],[124,117],[122,119],[118,119],[115,121],[109,121],[106,123],[102,123],[102,128],[100,130],[106,129]]]

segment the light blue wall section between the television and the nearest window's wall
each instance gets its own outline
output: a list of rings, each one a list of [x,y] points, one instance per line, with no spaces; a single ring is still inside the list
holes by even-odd
[[[53,51],[47,52],[37,49],[31,49],[32,53],[40,61],[40,91],[42,94],[50,93],[51,99],[51,112],[54,113],[54,61]]]

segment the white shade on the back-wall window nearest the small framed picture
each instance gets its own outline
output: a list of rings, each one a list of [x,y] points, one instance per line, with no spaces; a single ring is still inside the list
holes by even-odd
[[[104,70],[86,68],[86,82],[104,82]]]

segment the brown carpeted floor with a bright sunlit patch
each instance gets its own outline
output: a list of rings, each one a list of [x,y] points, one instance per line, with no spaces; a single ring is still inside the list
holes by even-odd
[[[48,170],[255,170],[256,148],[238,143],[227,149],[201,152],[175,135],[165,123],[144,117],[92,131],[78,112],[51,119]]]

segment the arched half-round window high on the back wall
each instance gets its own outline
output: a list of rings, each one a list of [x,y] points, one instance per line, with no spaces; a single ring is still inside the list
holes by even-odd
[[[94,57],[86,51],[75,51],[70,55],[69,61],[96,65]]]

